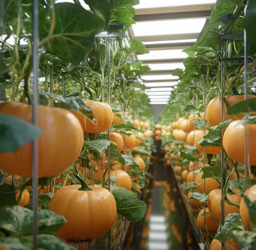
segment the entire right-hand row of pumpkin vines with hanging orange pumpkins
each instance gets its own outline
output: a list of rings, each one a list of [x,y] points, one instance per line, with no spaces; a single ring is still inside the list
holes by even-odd
[[[197,214],[198,228],[206,230],[209,239],[214,238],[211,250],[255,248],[256,158],[252,152],[256,149],[256,41],[251,33],[255,3],[248,2],[246,15],[242,11],[225,30],[225,34],[234,35],[243,34],[246,28],[252,58],[248,60],[248,73],[244,68],[244,41],[223,43],[222,30],[230,23],[218,20],[233,13],[237,5],[245,6],[244,1],[217,0],[202,36],[194,46],[184,49],[188,54],[185,69],[174,72],[180,82],[161,115],[160,124],[165,127],[158,132],[166,151],[164,164],[173,167],[191,211]],[[245,77],[248,100],[244,96]]]

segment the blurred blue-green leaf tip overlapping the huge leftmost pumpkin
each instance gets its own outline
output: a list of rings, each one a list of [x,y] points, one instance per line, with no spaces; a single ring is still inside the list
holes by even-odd
[[[12,115],[0,114],[0,153],[13,153],[41,135],[42,130]]]

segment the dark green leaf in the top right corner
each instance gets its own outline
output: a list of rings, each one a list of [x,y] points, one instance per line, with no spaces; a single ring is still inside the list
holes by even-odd
[[[244,19],[244,28],[246,29],[248,37],[250,37],[254,42],[256,42],[256,34],[253,29],[253,25],[256,22],[256,1],[249,1],[247,7],[246,17]]]

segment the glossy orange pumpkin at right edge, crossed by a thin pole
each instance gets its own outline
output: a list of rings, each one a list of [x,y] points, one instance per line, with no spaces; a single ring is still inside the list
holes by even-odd
[[[245,125],[239,124],[240,120],[233,121],[228,125],[223,136],[223,147],[227,155],[233,160],[244,163],[245,148]],[[247,153],[249,154],[249,165],[256,165],[256,124],[246,125]],[[239,143],[237,143],[239,142]]]

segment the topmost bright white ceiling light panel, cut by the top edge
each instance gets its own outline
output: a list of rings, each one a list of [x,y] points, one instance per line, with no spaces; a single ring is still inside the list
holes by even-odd
[[[135,5],[135,9],[149,9],[160,7],[174,7],[174,6],[186,6],[186,5],[206,5],[215,4],[216,0],[140,0],[139,5]]]

